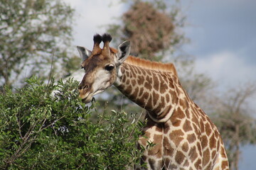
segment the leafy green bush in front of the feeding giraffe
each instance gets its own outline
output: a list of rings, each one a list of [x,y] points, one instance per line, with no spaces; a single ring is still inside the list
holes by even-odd
[[[142,123],[124,112],[97,113],[78,98],[78,82],[36,78],[0,94],[1,169],[127,169],[138,164]],[[57,91],[53,95],[53,91]]]

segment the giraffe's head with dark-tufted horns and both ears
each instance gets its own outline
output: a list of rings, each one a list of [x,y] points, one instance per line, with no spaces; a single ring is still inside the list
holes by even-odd
[[[129,56],[130,42],[124,41],[119,45],[118,50],[110,47],[112,37],[109,34],[95,35],[92,51],[85,47],[78,46],[78,52],[82,57],[82,69],[85,75],[78,86],[80,98],[87,103],[92,96],[105,91],[117,80],[119,66]],[[100,48],[103,42],[103,48]]]

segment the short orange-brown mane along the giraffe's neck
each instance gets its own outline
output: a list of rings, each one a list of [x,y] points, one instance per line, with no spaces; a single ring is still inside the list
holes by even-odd
[[[112,47],[110,47],[110,50],[114,53],[117,53],[117,50]],[[151,62],[149,60],[144,60],[139,57],[134,57],[132,55],[129,55],[129,57],[127,57],[127,60],[125,60],[124,62],[137,67],[142,67],[144,69],[152,69],[160,72],[172,72],[177,76],[177,72],[173,63]]]

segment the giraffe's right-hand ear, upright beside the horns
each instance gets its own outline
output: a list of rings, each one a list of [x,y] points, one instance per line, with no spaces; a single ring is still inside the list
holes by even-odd
[[[129,56],[131,50],[131,42],[130,41],[124,41],[121,45],[118,46],[118,52],[117,52],[117,66],[122,64],[124,60],[127,59]]]

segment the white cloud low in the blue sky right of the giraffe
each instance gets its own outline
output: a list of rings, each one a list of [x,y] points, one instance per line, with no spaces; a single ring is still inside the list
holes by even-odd
[[[235,86],[247,81],[256,81],[256,68],[245,62],[242,56],[231,51],[223,51],[196,61],[198,72],[208,74],[221,86]]]

